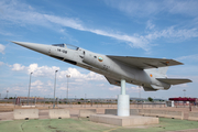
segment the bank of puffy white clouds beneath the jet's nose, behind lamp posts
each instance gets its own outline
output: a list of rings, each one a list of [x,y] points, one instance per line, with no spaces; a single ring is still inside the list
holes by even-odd
[[[68,68],[67,70],[61,70],[59,67],[56,66],[38,66],[37,64],[31,64],[30,66],[23,66],[21,64],[13,64],[12,70],[23,70],[28,74],[33,73],[35,77],[54,77],[55,70],[58,70],[56,74],[58,79],[66,80],[66,75],[70,75],[72,78],[76,79],[76,81],[85,81],[85,80],[106,80],[102,75],[96,74],[94,72],[89,72],[87,74],[81,74],[76,68]],[[50,84],[50,82],[48,82]]]

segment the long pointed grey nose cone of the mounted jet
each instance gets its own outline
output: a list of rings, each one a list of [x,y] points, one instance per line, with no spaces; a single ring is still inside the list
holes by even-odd
[[[14,44],[24,46],[26,48],[33,50],[35,52],[50,55],[51,45],[44,45],[44,44],[36,44],[36,43],[28,43],[28,42],[14,42],[11,41]]]

